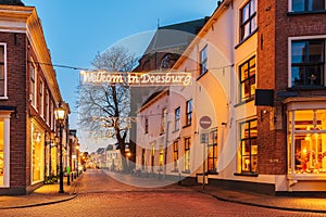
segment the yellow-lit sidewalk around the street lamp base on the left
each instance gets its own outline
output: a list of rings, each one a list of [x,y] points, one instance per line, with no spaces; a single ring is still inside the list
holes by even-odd
[[[43,184],[32,194],[27,195],[0,195],[0,209],[41,206],[72,200],[77,196],[78,186],[82,179],[80,176],[77,179],[74,179],[73,182],[71,181],[71,186],[66,184],[66,177],[64,177],[64,193],[59,193],[58,182],[53,184]]]

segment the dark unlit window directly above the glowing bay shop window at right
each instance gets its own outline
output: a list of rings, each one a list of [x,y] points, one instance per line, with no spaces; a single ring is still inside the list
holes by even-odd
[[[325,40],[291,41],[291,86],[325,86]]]

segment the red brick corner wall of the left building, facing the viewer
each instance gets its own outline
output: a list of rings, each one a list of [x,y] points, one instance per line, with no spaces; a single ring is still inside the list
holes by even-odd
[[[1,105],[16,107],[16,116],[10,120],[10,186],[26,183],[26,35],[0,33],[0,41],[7,43],[8,98]],[[29,171],[28,171],[29,173]]]

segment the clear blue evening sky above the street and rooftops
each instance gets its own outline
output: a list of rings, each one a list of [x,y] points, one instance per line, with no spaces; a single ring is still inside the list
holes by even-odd
[[[22,0],[35,7],[41,20],[52,63],[89,68],[98,52],[124,42],[142,46],[160,25],[210,16],[217,0]],[[135,36],[146,37],[135,37]],[[143,41],[142,41],[143,42]],[[71,128],[76,125],[79,71],[55,67],[63,99],[70,103]]]

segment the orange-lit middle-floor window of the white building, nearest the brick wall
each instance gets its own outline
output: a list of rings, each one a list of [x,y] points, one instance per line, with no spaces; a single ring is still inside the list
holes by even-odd
[[[240,101],[251,100],[255,90],[255,56],[239,67],[240,73]]]

